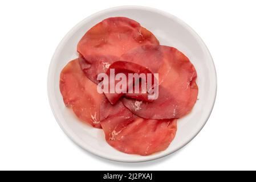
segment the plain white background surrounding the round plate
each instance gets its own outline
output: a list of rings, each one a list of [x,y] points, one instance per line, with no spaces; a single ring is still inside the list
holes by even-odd
[[[60,40],[80,20],[121,5],[184,20],[217,69],[217,100],[204,129],[152,162],[117,163],[83,151],[48,104],[48,66]],[[0,169],[256,169],[255,1],[1,1],[0,27]]]

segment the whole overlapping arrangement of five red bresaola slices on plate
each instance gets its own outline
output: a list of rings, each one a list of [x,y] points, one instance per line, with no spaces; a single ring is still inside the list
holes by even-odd
[[[108,144],[127,154],[150,155],[165,150],[177,131],[177,118],[196,100],[197,73],[188,57],[159,41],[135,20],[104,19],[78,43],[78,59],[60,73],[64,103],[76,116],[103,129]],[[158,73],[159,97],[143,93],[98,93],[97,75]],[[126,89],[126,88],[125,88]]]

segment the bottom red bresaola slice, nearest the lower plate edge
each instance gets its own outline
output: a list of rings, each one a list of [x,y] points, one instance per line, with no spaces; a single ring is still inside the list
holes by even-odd
[[[176,135],[177,119],[143,119],[121,101],[103,100],[100,124],[108,144],[127,154],[151,155],[165,150]]]

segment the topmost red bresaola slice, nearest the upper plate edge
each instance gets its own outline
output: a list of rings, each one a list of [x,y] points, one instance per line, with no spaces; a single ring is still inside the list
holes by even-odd
[[[86,76],[97,83],[97,75],[105,72],[123,53],[145,44],[159,45],[159,41],[135,20],[107,18],[88,30],[79,41],[79,63]]]

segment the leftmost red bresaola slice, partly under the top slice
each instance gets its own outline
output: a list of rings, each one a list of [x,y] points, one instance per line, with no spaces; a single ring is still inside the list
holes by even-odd
[[[100,104],[104,95],[99,94],[97,85],[84,75],[78,59],[70,61],[62,69],[59,87],[64,103],[79,119],[101,128]]]

